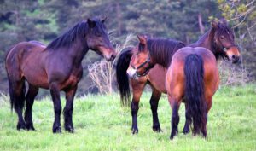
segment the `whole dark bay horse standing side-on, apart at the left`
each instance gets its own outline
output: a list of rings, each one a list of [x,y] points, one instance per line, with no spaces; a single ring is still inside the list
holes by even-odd
[[[73,132],[73,99],[83,75],[82,60],[89,49],[113,61],[116,52],[108,38],[104,20],[81,21],[48,46],[37,41],[16,44],[5,59],[11,108],[18,115],[17,130],[32,130],[32,105],[39,88],[49,89],[54,104],[52,131],[61,133],[60,91],[66,93],[65,130]],[[26,93],[25,81],[28,83]],[[26,102],[25,118],[23,107]]]

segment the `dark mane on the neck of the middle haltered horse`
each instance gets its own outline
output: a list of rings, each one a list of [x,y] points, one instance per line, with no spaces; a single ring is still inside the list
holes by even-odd
[[[147,39],[149,54],[154,60],[163,67],[169,67],[172,61],[172,55],[185,46],[180,41],[165,38],[148,38]],[[139,51],[143,45],[139,45]]]

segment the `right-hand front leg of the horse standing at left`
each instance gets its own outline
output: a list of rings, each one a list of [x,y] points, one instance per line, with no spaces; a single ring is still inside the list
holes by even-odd
[[[78,86],[76,85],[71,90],[66,91],[66,106],[64,107],[64,125],[65,130],[68,132],[73,132],[73,120],[72,120],[72,114],[73,114],[73,98],[76,94]]]

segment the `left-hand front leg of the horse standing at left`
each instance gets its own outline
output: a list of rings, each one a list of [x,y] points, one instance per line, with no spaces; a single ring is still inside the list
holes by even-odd
[[[50,84],[50,95],[52,97],[55,109],[55,121],[52,127],[54,133],[61,133],[61,98],[60,90],[57,84]]]

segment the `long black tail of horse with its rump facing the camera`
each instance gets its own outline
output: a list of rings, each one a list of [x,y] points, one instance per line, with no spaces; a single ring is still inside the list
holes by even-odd
[[[193,120],[193,133],[199,134],[206,111],[204,95],[204,61],[200,55],[188,55],[185,60],[185,101],[188,113]]]

